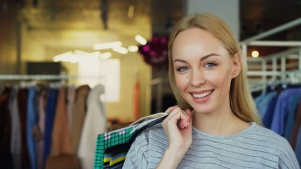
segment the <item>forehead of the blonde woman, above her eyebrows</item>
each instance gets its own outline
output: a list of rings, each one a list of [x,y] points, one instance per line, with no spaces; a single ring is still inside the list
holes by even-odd
[[[201,28],[190,28],[179,33],[172,46],[173,59],[181,56],[203,56],[209,53],[224,54],[222,42]]]

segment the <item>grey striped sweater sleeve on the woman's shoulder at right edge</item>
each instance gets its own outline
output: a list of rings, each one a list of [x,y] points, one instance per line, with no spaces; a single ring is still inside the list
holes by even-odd
[[[279,169],[300,169],[299,163],[291,145],[286,139],[283,138],[283,140],[286,144],[282,145],[284,151],[282,151],[279,156]]]

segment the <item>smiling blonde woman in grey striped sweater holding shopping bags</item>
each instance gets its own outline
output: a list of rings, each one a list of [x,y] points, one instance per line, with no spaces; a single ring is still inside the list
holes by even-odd
[[[140,134],[125,169],[300,169],[288,141],[261,127],[246,57],[211,14],[181,20],[169,39],[169,79],[179,106]]]

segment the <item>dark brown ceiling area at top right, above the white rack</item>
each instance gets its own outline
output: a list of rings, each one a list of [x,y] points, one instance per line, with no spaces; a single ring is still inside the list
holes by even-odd
[[[241,39],[244,40],[300,18],[301,0],[240,0],[240,17]],[[287,32],[268,39],[286,40]]]

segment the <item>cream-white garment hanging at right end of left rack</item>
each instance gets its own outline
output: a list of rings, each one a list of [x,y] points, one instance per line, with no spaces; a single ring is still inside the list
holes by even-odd
[[[78,157],[83,169],[93,169],[97,135],[106,132],[106,114],[100,94],[104,86],[99,84],[90,90],[87,98],[87,115],[80,139]]]

